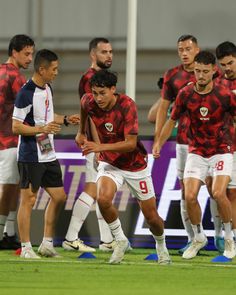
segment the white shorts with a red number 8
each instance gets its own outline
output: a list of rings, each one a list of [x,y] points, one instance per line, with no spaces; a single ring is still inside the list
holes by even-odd
[[[231,177],[233,169],[232,154],[217,154],[210,158],[204,158],[196,154],[188,154],[187,162],[184,170],[184,178],[193,177],[200,179],[205,183],[205,179],[210,175],[212,177],[218,175],[228,175]]]

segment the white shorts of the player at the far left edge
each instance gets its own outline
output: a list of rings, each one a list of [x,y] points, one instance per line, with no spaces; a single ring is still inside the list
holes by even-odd
[[[0,184],[18,184],[17,148],[0,150]]]

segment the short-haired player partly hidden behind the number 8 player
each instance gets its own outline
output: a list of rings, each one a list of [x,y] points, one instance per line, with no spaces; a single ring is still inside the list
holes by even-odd
[[[167,119],[168,110],[175,101],[180,89],[189,83],[195,82],[194,57],[200,51],[197,39],[192,35],[182,35],[178,39],[177,48],[181,64],[168,70],[164,75],[162,98],[159,103],[155,120],[156,137],[160,136],[161,130]],[[179,250],[179,253],[182,254],[184,250],[189,247],[194,237],[184,199],[183,173],[188,154],[188,119],[185,114],[183,114],[178,122],[176,142],[177,176],[182,191],[180,212],[184,228],[188,235],[187,245]],[[219,252],[223,252],[224,240],[222,238],[222,224],[219,218],[216,202],[213,198],[210,198],[210,209],[215,228],[215,246]]]

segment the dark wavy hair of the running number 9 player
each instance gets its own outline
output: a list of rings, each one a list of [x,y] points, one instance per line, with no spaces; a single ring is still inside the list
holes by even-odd
[[[107,87],[116,86],[117,74],[108,70],[100,70],[96,72],[90,79],[90,87]]]

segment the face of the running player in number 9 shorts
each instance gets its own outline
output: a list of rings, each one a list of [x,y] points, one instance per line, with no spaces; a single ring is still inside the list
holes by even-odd
[[[99,108],[103,110],[110,110],[116,102],[115,93],[116,87],[112,86],[108,87],[92,87],[92,94],[94,99],[99,106]]]

